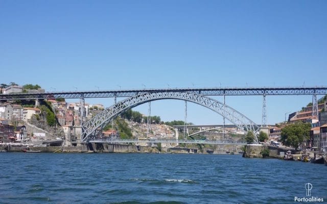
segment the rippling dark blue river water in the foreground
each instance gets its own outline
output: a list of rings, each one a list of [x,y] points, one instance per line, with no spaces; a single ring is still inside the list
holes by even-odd
[[[0,203],[327,201],[327,166],[233,155],[0,153]]]

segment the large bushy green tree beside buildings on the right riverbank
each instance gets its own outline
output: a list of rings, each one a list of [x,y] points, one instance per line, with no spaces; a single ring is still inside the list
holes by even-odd
[[[310,123],[297,122],[287,125],[282,129],[282,143],[286,146],[292,146],[297,149],[303,141],[309,139],[310,130]]]

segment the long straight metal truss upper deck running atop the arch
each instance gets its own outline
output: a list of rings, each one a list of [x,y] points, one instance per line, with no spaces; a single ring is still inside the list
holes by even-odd
[[[46,93],[0,94],[0,100],[8,99],[46,99],[46,98],[108,98],[131,97],[148,92],[182,91],[201,95],[324,95],[327,87],[285,87],[285,88],[175,88],[175,89],[139,89],[107,91],[65,91]]]

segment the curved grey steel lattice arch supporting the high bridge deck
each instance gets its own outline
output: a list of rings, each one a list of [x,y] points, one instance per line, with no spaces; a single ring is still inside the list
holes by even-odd
[[[102,129],[110,120],[117,117],[124,111],[134,108],[138,105],[145,104],[153,100],[161,99],[179,99],[187,100],[213,110],[214,112],[225,117],[227,120],[235,124],[239,129],[244,132],[253,131],[255,142],[258,143],[258,132],[260,127],[255,124],[248,117],[238,112],[237,110],[224,105],[218,100],[209,98],[204,95],[184,92],[184,91],[153,91],[143,92],[135,96],[131,96],[118,103],[106,108],[104,111],[94,116],[82,125],[81,142],[88,142],[89,139],[95,138],[99,128]]]

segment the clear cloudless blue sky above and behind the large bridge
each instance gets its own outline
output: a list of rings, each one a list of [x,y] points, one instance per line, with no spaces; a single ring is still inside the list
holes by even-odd
[[[326,11],[327,1],[0,0],[0,83],[46,91],[327,86]],[[227,96],[226,104],[261,123],[262,100]],[[267,121],[310,101],[267,96]],[[184,103],[154,101],[151,115],[184,120]],[[189,103],[188,122],[222,117]]]

